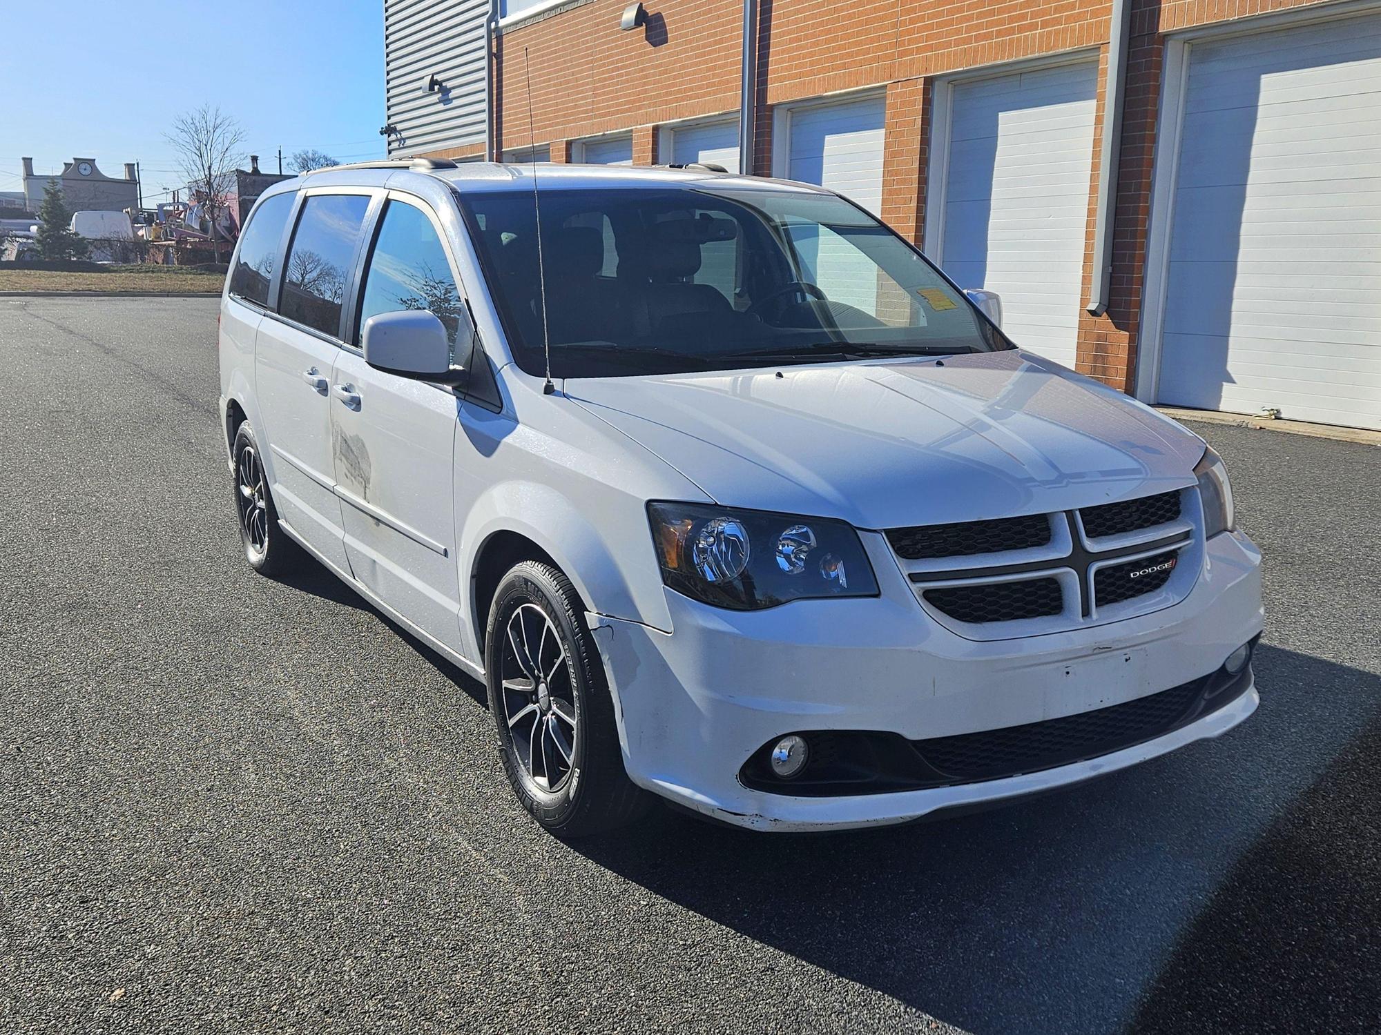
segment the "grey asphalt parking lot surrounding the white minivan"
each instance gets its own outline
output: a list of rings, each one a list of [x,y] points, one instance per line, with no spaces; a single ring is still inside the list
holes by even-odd
[[[253,574],[215,299],[0,298],[0,1028],[1381,1028],[1381,450],[1197,425],[1261,709],[1018,806],[562,845],[482,687]]]

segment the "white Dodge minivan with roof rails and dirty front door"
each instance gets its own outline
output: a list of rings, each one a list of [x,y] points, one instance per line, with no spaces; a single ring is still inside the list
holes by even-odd
[[[802,184],[290,179],[221,302],[244,553],[483,679],[562,836],[900,822],[1219,736],[1262,628],[1222,462],[997,313]]]

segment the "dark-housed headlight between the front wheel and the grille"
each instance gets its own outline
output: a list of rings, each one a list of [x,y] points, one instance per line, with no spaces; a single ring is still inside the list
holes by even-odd
[[[873,566],[845,522],[702,504],[648,504],[648,518],[661,581],[715,607],[877,596]]]

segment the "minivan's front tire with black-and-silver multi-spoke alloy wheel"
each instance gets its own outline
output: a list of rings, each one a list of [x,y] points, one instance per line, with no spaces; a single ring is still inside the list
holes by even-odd
[[[485,632],[485,682],[504,771],[518,800],[561,838],[642,817],[650,796],[623,767],[613,698],[584,607],[559,570],[515,564]]]

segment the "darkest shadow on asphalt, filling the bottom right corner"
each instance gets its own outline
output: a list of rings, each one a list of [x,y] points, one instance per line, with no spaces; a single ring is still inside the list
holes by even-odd
[[[1137,1035],[1381,1031],[1378,758],[1373,719],[1243,854],[1156,977]]]

